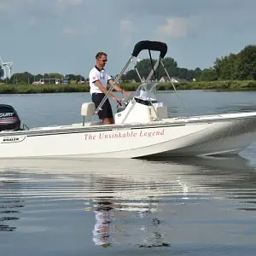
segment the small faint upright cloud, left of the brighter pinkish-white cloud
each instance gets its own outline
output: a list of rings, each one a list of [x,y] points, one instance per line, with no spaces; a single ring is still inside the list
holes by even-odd
[[[133,34],[135,32],[135,28],[131,20],[120,20],[119,30],[121,44],[124,47],[130,46],[133,42]]]

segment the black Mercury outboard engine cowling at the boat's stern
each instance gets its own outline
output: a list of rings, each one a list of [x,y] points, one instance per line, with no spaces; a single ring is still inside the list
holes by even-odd
[[[19,131],[20,118],[10,105],[0,104],[0,131]]]

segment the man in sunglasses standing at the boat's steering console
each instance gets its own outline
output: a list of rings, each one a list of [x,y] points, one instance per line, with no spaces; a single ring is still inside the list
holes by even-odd
[[[106,73],[104,67],[108,61],[108,55],[104,52],[98,52],[96,54],[96,66],[90,70],[89,82],[90,82],[90,94],[91,100],[95,103],[96,108],[102,102],[102,99],[107,94],[107,85],[113,84],[113,79],[108,73]],[[119,85],[114,86],[114,90],[121,92],[124,96],[130,95],[129,92],[122,90]],[[120,102],[121,100],[109,93],[108,96],[113,98],[114,101]],[[102,119],[103,125],[110,125],[114,123],[113,112],[109,100],[102,105],[102,110],[98,112],[99,119]]]

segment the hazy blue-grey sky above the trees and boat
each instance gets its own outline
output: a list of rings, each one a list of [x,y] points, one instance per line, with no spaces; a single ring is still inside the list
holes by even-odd
[[[115,75],[138,41],[154,40],[178,67],[207,68],[256,43],[255,9],[255,0],[0,0],[0,55],[13,73],[87,78],[97,51]]]

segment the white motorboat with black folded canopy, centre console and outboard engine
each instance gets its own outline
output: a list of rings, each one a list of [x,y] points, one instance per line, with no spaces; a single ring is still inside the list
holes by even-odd
[[[146,81],[119,103],[114,125],[95,120],[102,104],[139,53],[148,49],[160,51]],[[256,139],[256,112],[224,113],[189,117],[170,117],[163,102],[157,101],[157,80],[153,74],[163,59],[167,45],[140,41],[125,67],[114,80],[98,108],[85,102],[81,115],[91,121],[81,124],[21,127],[20,118],[9,105],[0,106],[0,158],[142,158],[150,156],[185,156],[238,154]],[[152,59],[151,59],[152,60]],[[171,78],[164,67],[170,81]],[[140,74],[137,71],[139,78]],[[142,80],[142,79],[141,79]],[[172,84],[174,89],[175,86]],[[175,89],[176,90],[176,89]]]

